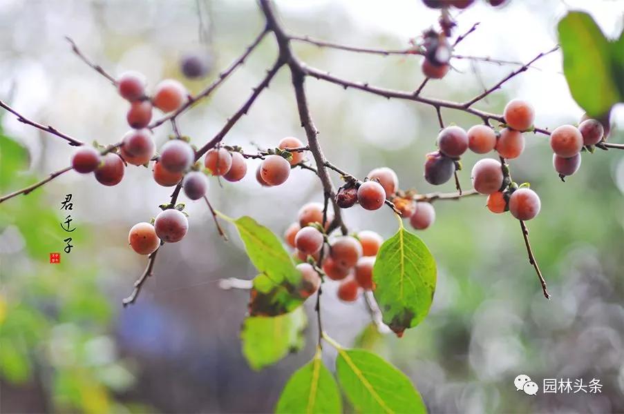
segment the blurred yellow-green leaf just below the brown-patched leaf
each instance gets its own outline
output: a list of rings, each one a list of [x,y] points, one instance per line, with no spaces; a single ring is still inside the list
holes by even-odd
[[[307,324],[308,318],[301,307],[280,316],[247,317],[240,339],[249,366],[258,370],[274,364],[288,353],[301,350],[305,344],[303,330]]]

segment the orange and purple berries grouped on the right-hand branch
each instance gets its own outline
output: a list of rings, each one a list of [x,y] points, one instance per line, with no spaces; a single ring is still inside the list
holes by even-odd
[[[495,132],[486,125],[473,126],[466,132],[458,126],[444,128],[437,137],[439,150],[426,155],[424,177],[430,184],[444,184],[451,179],[461,155],[470,149],[477,154],[492,150],[504,159],[520,157],[524,151],[523,131],[531,130],[535,110],[527,101],[513,99],[504,108],[506,126]],[[580,151],[603,139],[605,130],[596,119],[583,120],[578,128],[564,125],[550,134],[553,164],[561,177],[572,175],[580,166]],[[513,217],[529,220],[540,212],[540,198],[527,186],[509,179],[507,166],[496,159],[481,159],[473,166],[471,178],[478,193],[488,195],[487,206],[493,213],[509,210]],[[507,179],[506,179],[507,178]]]

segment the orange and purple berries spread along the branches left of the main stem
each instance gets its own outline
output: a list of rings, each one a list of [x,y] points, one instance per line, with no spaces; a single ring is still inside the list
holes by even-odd
[[[72,157],[72,167],[77,172],[93,172],[95,179],[104,186],[116,186],[123,177],[127,164],[148,166],[153,163],[153,179],[160,186],[176,186],[182,181],[182,188],[191,200],[205,197],[207,174],[223,176],[227,181],[240,181],[247,174],[247,164],[242,153],[225,148],[212,148],[204,159],[205,171],[196,164],[196,151],[186,139],[178,137],[167,141],[156,156],[156,146],[148,128],[153,107],[162,112],[180,110],[187,104],[189,95],[182,83],[166,79],[158,83],[152,97],[146,95],[146,81],[136,72],[126,72],[115,82],[120,95],[130,102],[127,113],[131,130],[126,132],[118,150],[100,150],[93,146],[80,147]],[[264,157],[256,178],[263,186],[283,184],[290,175],[290,168],[303,159],[301,152],[287,152],[287,148],[300,148],[301,141],[287,137],[280,141],[281,155]],[[285,157],[290,159],[287,160]],[[181,206],[180,206],[181,207]],[[187,234],[187,215],[178,206],[164,206],[164,210],[153,220],[153,224],[139,223],[131,228],[129,243],[136,253],[149,255],[162,242],[179,242]]]

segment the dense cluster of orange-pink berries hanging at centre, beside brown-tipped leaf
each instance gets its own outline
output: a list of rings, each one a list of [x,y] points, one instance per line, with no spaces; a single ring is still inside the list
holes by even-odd
[[[325,223],[332,221],[327,213]],[[364,230],[357,235],[330,238],[323,223],[323,205],[308,203],[299,210],[297,221],[284,234],[286,243],[295,249],[294,256],[304,263],[297,265],[303,275],[302,297],[309,297],[321,285],[319,267],[332,280],[339,281],[338,297],[344,302],[354,302],[362,290],[374,290],[372,268],[375,256],[384,242],[377,233]],[[314,262],[314,266],[308,263]]]

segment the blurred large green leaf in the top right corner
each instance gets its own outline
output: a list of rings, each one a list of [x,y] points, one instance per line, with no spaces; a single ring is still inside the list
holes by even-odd
[[[590,117],[605,115],[624,96],[615,80],[612,44],[584,12],[569,12],[559,21],[558,32],[563,72],[572,97]]]

